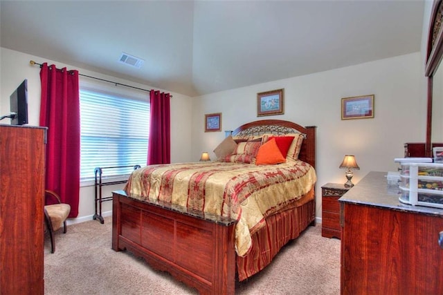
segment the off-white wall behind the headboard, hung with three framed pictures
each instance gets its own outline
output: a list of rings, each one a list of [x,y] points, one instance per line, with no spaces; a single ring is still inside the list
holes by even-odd
[[[397,171],[405,142],[424,142],[426,97],[420,53],[368,62],[290,79],[195,97],[192,109],[192,157],[213,151],[224,132],[204,133],[204,114],[222,113],[222,130],[255,120],[279,119],[317,126],[317,211],[320,187],[345,182],[338,169],[343,155],[360,166],[354,183],[369,171]],[[257,93],[284,88],[284,115],[257,117]],[[374,118],[341,120],[341,98],[374,94]],[[211,158],[215,158],[211,153]]]

